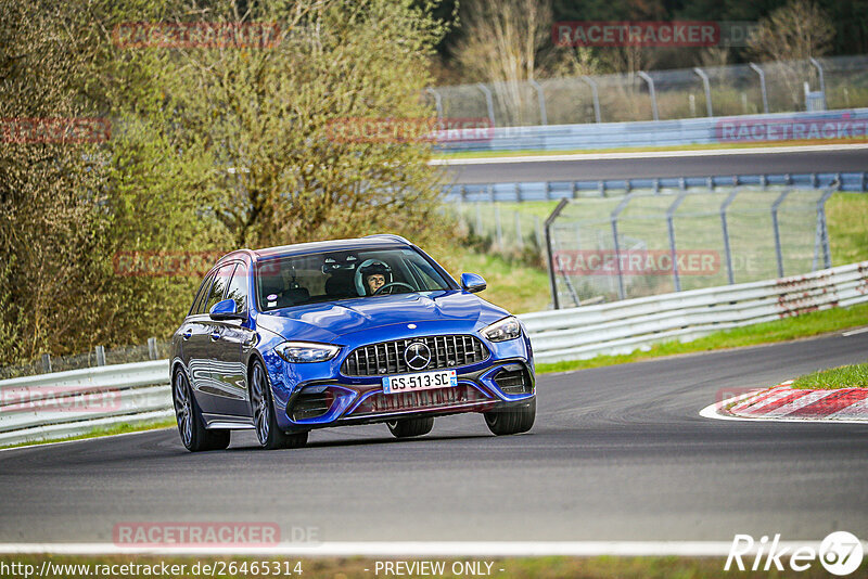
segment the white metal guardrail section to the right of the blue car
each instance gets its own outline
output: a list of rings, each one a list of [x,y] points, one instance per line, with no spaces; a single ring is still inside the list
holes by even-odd
[[[809,311],[868,303],[868,261],[778,280],[521,314],[541,363],[629,353]]]

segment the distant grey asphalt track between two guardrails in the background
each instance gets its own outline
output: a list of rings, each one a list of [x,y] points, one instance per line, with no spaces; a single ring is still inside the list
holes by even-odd
[[[868,149],[822,152],[714,154],[642,158],[587,158],[533,163],[484,163],[445,167],[456,183],[514,181],[584,181],[656,177],[706,177],[760,173],[847,172],[868,170]],[[590,155],[589,155],[590,157]]]

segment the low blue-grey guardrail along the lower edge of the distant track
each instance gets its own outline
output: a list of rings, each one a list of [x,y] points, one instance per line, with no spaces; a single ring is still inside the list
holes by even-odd
[[[837,191],[868,191],[868,172],[768,173],[714,177],[662,177],[656,179],[607,179],[599,181],[525,181],[510,183],[452,184],[443,188],[449,202],[557,201],[570,197],[604,197],[636,190],[661,192],[714,190],[731,186],[794,186]]]

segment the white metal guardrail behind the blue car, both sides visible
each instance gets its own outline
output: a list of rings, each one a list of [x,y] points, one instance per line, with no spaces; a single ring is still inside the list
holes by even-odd
[[[537,361],[556,362],[860,303],[868,303],[868,261],[520,318]],[[157,360],[0,381],[0,446],[171,417],[168,376],[168,360]]]

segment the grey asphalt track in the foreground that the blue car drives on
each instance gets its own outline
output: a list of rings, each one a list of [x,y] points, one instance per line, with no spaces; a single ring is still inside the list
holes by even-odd
[[[266,452],[252,433],[190,454],[175,429],[0,452],[0,542],[110,542],[118,523],[268,522],[345,540],[819,540],[868,536],[868,424],[699,416],[720,388],[861,362],[868,334],[538,382],[536,426],[482,416],[421,439],[384,425]]]

